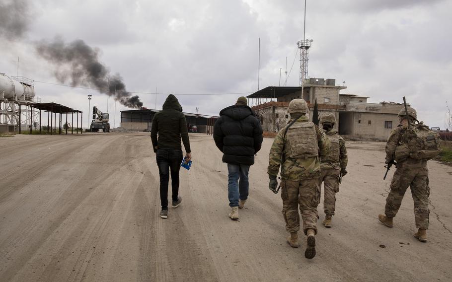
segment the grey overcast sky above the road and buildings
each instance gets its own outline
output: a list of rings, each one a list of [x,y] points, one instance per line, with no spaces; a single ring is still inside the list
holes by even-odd
[[[308,75],[345,81],[341,93],[369,102],[406,96],[419,120],[444,128],[446,101],[452,107],[451,10],[447,0],[307,0]],[[61,66],[36,46],[82,40],[128,91],[174,93],[185,112],[218,115],[257,91],[259,38],[260,88],[279,85],[280,68],[284,85],[286,57],[287,85],[299,85],[303,12],[302,0],[0,0],[0,72],[16,75],[19,57],[19,75],[61,83]],[[36,82],[35,92],[85,113],[93,94],[91,107],[106,112],[99,91]],[[155,94],[131,95],[155,108]],[[157,109],[165,98],[157,95]],[[125,109],[117,104],[116,126]],[[108,111],[113,126],[112,97]]]

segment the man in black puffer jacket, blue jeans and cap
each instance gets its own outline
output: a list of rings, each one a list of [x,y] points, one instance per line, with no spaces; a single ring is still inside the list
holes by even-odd
[[[247,106],[245,97],[220,112],[214,125],[214,140],[227,163],[229,217],[238,219],[248,198],[248,171],[254,164],[254,155],[262,145],[262,127],[255,113]],[[238,185],[237,185],[238,181]]]

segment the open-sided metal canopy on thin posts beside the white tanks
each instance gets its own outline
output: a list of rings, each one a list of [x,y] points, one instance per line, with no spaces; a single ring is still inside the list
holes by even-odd
[[[27,106],[30,108],[35,108],[39,110],[39,133],[41,133],[41,111],[45,111],[48,113],[47,115],[47,133],[50,135],[53,135],[53,131],[57,129],[57,114],[59,114],[59,127],[58,127],[58,133],[62,134],[62,116],[63,114],[66,114],[66,124],[68,124],[68,114],[72,115],[72,126],[71,126],[71,134],[74,134],[74,114],[77,114],[76,117],[76,134],[78,134],[78,114],[81,114],[81,121],[80,124],[83,123],[83,112],[79,110],[72,109],[70,107],[57,104],[57,103],[30,103],[30,102],[22,102],[18,103],[19,106],[19,124],[20,124],[20,107],[21,106]],[[66,134],[68,134],[68,127],[66,127]],[[33,129],[33,121],[30,118],[30,134],[32,134]],[[80,132],[82,134],[83,131]],[[19,134],[20,134],[20,126],[19,126]]]

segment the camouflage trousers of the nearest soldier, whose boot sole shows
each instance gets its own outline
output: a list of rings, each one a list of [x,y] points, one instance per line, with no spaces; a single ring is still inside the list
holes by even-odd
[[[283,216],[288,232],[300,230],[300,205],[301,218],[303,219],[303,231],[313,229],[317,234],[317,205],[320,201],[318,178],[301,181],[283,180],[281,182],[281,198],[283,199]]]

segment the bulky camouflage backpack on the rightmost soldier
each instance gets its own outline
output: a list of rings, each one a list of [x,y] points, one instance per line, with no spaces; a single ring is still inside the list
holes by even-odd
[[[424,124],[415,124],[403,133],[401,144],[395,147],[395,161],[431,159],[441,152],[439,134]]]

